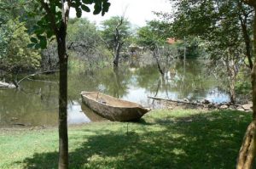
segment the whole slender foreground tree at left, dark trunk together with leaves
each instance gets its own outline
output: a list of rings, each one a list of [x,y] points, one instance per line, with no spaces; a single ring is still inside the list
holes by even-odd
[[[68,137],[67,137],[67,51],[66,51],[66,37],[67,37],[67,23],[69,18],[69,9],[73,5],[76,8],[78,17],[82,15],[82,9],[86,12],[88,7],[86,4],[95,3],[94,14],[102,12],[104,15],[108,12],[110,3],[108,0],[57,0],[45,1],[38,0],[42,8],[45,10],[45,18],[42,20],[47,21],[47,27],[50,26],[51,33],[55,35],[58,44],[58,56],[60,63],[60,82],[59,82],[59,169],[68,168]],[[56,6],[61,6],[61,18],[59,17],[59,10]],[[41,26],[42,27],[42,26]],[[41,28],[40,27],[40,28]],[[45,26],[43,26],[45,29]],[[49,30],[48,30],[49,31]],[[40,31],[41,32],[41,31]],[[47,32],[47,37],[49,36]],[[50,36],[51,37],[51,34]]]

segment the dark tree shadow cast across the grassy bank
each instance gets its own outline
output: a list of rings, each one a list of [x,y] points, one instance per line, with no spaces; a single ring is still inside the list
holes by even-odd
[[[168,121],[134,124],[128,135],[105,128],[84,139],[69,154],[70,168],[235,168],[250,115],[210,112]],[[149,128],[148,128],[149,127]],[[104,134],[102,134],[104,133]],[[26,168],[56,168],[57,152],[26,158]]]

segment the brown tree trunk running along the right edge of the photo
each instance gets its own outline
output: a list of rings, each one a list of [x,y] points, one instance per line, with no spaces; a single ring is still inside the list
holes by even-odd
[[[244,0],[244,3],[256,8],[255,0]],[[253,19],[253,56],[256,56],[256,14]],[[251,169],[255,157],[256,148],[256,61],[254,59],[252,70],[252,86],[253,86],[253,121],[247,127],[247,132],[243,138],[241,149],[237,158],[236,169]]]

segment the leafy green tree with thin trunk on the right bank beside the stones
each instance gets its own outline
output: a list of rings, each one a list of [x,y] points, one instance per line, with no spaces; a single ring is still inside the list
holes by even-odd
[[[239,67],[247,58],[252,69],[253,10],[241,1],[183,1],[176,0],[177,8],[167,17],[176,38],[199,37],[207,54],[220,60],[229,78],[230,101],[236,102],[235,83]]]

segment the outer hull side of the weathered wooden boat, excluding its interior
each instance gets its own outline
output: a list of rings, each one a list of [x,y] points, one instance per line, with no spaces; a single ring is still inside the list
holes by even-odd
[[[102,104],[95,99],[87,97],[84,93],[81,93],[81,96],[84,104],[86,104],[91,110],[96,111],[97,114],[110,121],[137,121],[148,112],[148,110],[144,109],[140,104],[136,104],[136,106],[132,107],[118,107],[111,104]],[[108,96],[108,98],[110,97]],[[122,102],[124,102],[124,100],[122,100]],[[129,104],[130,103],[131,102],[129,102]]]

